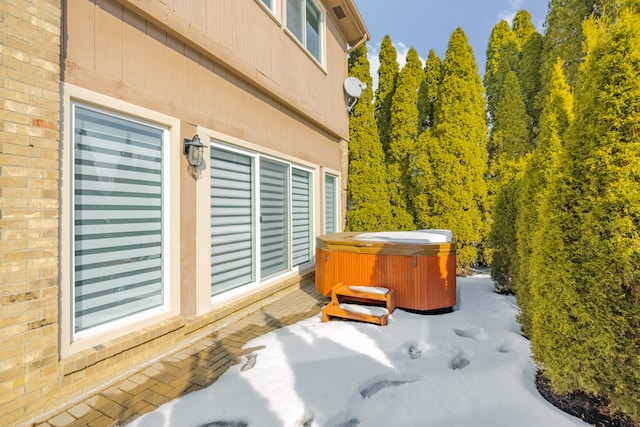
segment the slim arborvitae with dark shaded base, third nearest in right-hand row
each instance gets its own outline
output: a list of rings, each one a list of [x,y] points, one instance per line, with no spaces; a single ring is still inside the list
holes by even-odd
[[[491,276],[499,292],[512,292],[516,266],[517,199],[525,154],[533,149],[531,118],[527,115],[516,73],[510,71],[504,81],[494,115],[489,160],[495,199],[491,209],[489,247],[492,248]]]

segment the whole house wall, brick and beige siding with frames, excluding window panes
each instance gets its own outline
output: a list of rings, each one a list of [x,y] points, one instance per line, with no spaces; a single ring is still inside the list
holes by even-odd
[[[346,55],[368,35],[352,0],[318,0],[318,61],[287,30],[284,3],[0,0],[0,425],[42,420],[313,280],[309,263],[212,301],[198,243],[207,178],[182,154],[198,133],[309,170],[322,234],[325,173],[344,198]],[[74,103],[166,129],[171,200],[168,309],[82,340],[69,320]]]

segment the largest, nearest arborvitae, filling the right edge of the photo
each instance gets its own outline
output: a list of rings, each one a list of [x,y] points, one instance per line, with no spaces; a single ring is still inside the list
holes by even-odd
[[[584,29],[576,118],[534,238],[532,346],[556,391],[640,422],[640,15]]]

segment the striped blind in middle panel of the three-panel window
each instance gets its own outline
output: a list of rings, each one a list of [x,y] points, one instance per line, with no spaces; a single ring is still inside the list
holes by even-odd
[[[260,272],[262,278],[288,269],[288,173],[286,164],[260,162]]]

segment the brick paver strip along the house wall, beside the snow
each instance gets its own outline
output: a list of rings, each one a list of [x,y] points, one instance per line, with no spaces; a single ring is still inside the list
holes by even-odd
[[[327,302],[313,284],[296,289],[37,426],[125,425],[171,399],[211,385],[256,350],[242,348],[249,340],[311,317]]]

